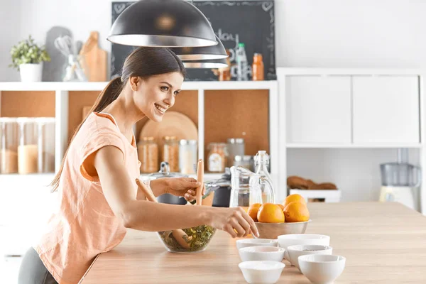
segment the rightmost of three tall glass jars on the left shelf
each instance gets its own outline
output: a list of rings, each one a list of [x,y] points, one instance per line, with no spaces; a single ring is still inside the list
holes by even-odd
[[[55,173],[55,118],[35,119],[38,127],[38,173]]]

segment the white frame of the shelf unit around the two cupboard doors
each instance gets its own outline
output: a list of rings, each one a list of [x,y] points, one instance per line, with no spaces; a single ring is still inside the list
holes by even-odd
[[[418,151],[419,153],[418,161],[420,165],[424,168],[422,170],[422,186],[420,187],[420,212],[422,214],[426,214],[426,191],[425,191],[425,180],[426,180],[426,143],[425,143],[425,82],[424,78],[426,75],[426,70],[421,69],[388,69],[388,68],[293,68],[293,67],[280,67],[277,69],[278,75],[278,83],[279,83],[279,137],[278,141],[280,141],[280,157],[279,157],[279,168],[280,168],[280,178],[278,183],[280,185],[286,184],[286,178],[288,176],[288,163],[291,163],[288,160],[288,151],[302,151],[306,149],[306,151],[315,151],[315,149],[323,149],[327,151],[327,149],[334,149],[334,151],[339,151],[339,149],[359,149],[359,151],[368,151],[368,149],[393,149],[393,148],[410,148],[410,151]],[[288,94],[289,94],[289,86],[288,86],[288,78],[289,77],[321,77],[321,78],[335,78],[335,77],[383,77],[389,78],[393,76],[398,77],[417,77],[418,79],[418,131],[419,131],[419,139],[413,143],[383,143],[380,141],[372,142],[372,143],[354,143],[354,133],[351,130],[351,143],[342,142],[342,143],[323,143],[323,142],[292,142],[288,141],[290,129],[288,129]],[[351,80],[350,87],[353,87],[353,82]],[[321,94],[324,94],[321,93]],[[350,97],[350,103],[352,102],[353,94]],[[339,107],[339,106],[333,106]],[[353,115],[353,106],[351,105],[351,109],[349,109],[349,113]],[[299,115],[299,114],[297,114]],[[327,114],[326,114],[327,115]],[[300,114],[302,116],[302,114]],[[339,117],[336,117],[339,119]],[[353,121],[351,121],[350,127],[353,128]],[[343,141],[343,140],[342,140]],[[320,151],[319,150],[319,151]],[[293,152],[292,152],[293,153]],[[299,152],[300,153],[300,152]],[[310,152],[311,153],[311,152]],[[338,152],[341,153],[341,152]],[[349,152],[348,152],[349,153]],[[293,153],[294,158],[294,153]],[[308,165],[309,166],[309,165]],[[327,167],[327,165],[324,165]],[[300,168],[300,167],[299,167]]]

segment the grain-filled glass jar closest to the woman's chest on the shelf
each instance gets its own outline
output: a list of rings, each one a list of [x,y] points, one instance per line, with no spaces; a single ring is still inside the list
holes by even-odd
[[[154,137],[143,137],[138,143],[138,158],[141,161],[141,173],[158,172],[158,145]]]

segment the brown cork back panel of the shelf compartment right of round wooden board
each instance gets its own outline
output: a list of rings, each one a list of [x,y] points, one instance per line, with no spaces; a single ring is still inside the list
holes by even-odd
[[[204,92],[204,150],[212,142],[244,138],[246,155],[269,153],[269,91],[212,90]]]

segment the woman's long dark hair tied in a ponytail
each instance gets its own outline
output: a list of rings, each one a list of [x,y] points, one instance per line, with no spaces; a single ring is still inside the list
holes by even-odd
[[[178,58],[173,51],[168,48],[136,48],[136,50],[133,50],[133,52],[124,61],[121,77],[116,77],[107,84],[107,87],[105,87],[105,89],[97,97],[97,100],[94,102],[89,114],[92,113],[92,111],[102,111],[111,104],[111,102],[114,102],[119,97],[121,90],[130,77],[138,76],[142,79],[147,79],[154,75],[170,72],[180,72],[183,77],[186,75],[186,70],[182,61],[180,61],[180,58]],[[75,129],[72,138],[70,139],[70,143],[74,140],[83,123],[84,121],[82,121],[82,123]],[[68,150],[65,152],[58,173],[50,183],[50,186],[53,187],[52,191],[57,190],[59,187],[60,175],[62,174],[67,153]]]

